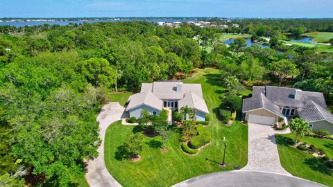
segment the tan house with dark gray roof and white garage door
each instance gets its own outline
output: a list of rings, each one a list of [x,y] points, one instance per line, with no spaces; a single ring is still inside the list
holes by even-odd
[[[323,93],[287,87],[253,87],[253,96],[243,100],[242,112],[249,123],[273,125],[279,117],[298,116],[311,131],[326,129],[333,134],[333,114],[327,111]]]

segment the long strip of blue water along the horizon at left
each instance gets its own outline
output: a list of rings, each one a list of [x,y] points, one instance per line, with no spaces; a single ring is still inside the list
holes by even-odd
[[[96,22],[119,22],[119,21],[148,21],[148,22],[182,22],[182,21],[198,21],[198,19],[120,19],[120,20],[87,20],[87,21],[23,21],[23,22],[0,22],[0,26],[39,26],[44,24],[49,25],[60,25],[60,26],[67,26],[68,24],[83,24],[84,22],[87,23],[96,23]]]

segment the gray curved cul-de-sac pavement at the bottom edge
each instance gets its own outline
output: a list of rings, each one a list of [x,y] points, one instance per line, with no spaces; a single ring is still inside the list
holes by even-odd
[[[223,187],[319,187],[321,184],[292,177],[289,175],[282,175],[273,172],[255,172],[245,170],[233,170],[227,172],[214,172],[208,175],[200,175],[182,181],[176,184],[175,187],[206,187],[206,186],[223,186]]]

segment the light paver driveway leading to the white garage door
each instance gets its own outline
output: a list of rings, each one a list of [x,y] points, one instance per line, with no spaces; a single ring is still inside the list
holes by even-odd
[[[275,131],[270,125],[248,123],[248,164],[241,170],[275,172],[291,176],[281,166],[275,133],[287,134],[290,131]]]

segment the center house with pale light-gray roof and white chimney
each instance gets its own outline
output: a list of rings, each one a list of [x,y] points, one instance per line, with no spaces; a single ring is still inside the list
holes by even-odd
[[[190,107],[196,111],[196,120],[205,121],[209,114],[201,84],[183,84],[182,82],[142,83],[141,91],[128,98],[126,111],[130,117],[140,118],[142,110],[158,115],[162,109],[180,109]]]

